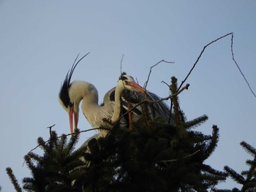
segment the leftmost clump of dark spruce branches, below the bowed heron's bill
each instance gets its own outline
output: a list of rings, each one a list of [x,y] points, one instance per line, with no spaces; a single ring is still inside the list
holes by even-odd
[[[79,177],[80,169],[85,166],[85,162],[80,160],[85,149],[80,147],[75,150],[78,135],[76,130],[69,142],[65,135],[57,137],[55,131],[52,131],[50,140],[47,142],[39,137],[37,142],[44,154],[42,156],[35,153],[25,155],[32,177],[23,178],[23,189],[26,191],[73,191],[76,186],[72,182]],[[12,177],[10,179],[15,185],[15,190],[22,191],[21,188],[16,187],[18,183],[16,184]]]

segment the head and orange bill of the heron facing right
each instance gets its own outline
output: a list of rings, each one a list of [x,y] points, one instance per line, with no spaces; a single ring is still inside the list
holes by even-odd
[[[136,83],[135,80],[125,72],[123,72],[119,77],[118,86],[129,91],[139,91],[143,93],[146,92],[145,88],[138,85],[138,83]]]

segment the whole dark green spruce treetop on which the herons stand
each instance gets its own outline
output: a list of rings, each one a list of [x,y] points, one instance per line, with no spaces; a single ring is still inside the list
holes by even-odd
[[[170,91],[174,95],[178,92],[174,77]],[[57,137],[54,131],[48,142],[39,137],[44,153],[25,156],[31,177],[23,179],[23,189],[164,192],[214,188],[225,180],[226,174],[204,161],[217,147],[219,128],[213,126],[211,135],[194,131],[208,117],[202,115],[187,121],[178,96],[173,96],[172,101],[170,118],[174,118],[175,124],[143,115],[132,128],[116,125],[105,138],[91,139],[78,150],[78,130],[69,141],[65,135]]]

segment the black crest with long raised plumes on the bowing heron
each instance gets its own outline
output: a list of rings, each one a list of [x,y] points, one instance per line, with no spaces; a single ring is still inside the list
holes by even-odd
[[[65,80],[63,82],[63,84],[61,85],[61,90],[59,91],[59,98],[61,99],[61,101],[63,102],[65,107],[68,107],[70,104],[70,98],[69,98],[69,87],[71,86],[70,80],[72,77],[72,74],[75,70],[75,67],[79,64],[79,62],[85,58],[87,55],[89,55],[89,53],[87,53],[86,55],[84,55],[82,58],[80,58],[78,60],[78,56],[75,58],[74,63],[72,64],[72,68],[67,72],[67,75],[65,77]],[[77,61],[78,60],[78,61]],[[76,62],[77,61],[77,62]]]

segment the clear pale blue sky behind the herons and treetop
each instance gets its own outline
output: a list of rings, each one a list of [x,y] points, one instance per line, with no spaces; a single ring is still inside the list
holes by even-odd
[[[75,57],[91,52],[72,80],[85,80],[99,91],[99,102],[122,70],[146,82],[148,90],[167,96],[176,76],[181,82],[208,42],[234,33],[234,54],[256,90],[256,1],[0,1],[0,185],[14,191],[5,169],[11,166],[21,183],[29,177],[23,156],[49,137],[46,127],[69,133],[69,121],[58,101],[59,89]],[[252,158],[240,147],[256,147],[256,98],[232,61],[230,39],[207,47],[181,93],[188,120],[208,115],[199,131],[220,128],[219,145],[206,161],[215,169],[228,165],[241,172]],[[80,112],[79,128],[91,126]],[[82,134],[85,141],[95,132]],[[36,150],[35,152],[40,152]],[[220,185],[233,188],[228,180]],[[239,187],[239,185],[237,186]]]

